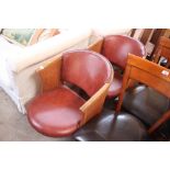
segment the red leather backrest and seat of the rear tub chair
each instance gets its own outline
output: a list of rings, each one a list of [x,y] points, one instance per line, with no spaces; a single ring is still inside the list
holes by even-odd
[[[109,35],[104,38],[102,55],[122,70],[125,69],[128,53],[145,56],[145,46],[139,41],[124,35]],[[113,82],[109,89],[109,98],[118,95],[122,88],[122,75],[115,70]]]

